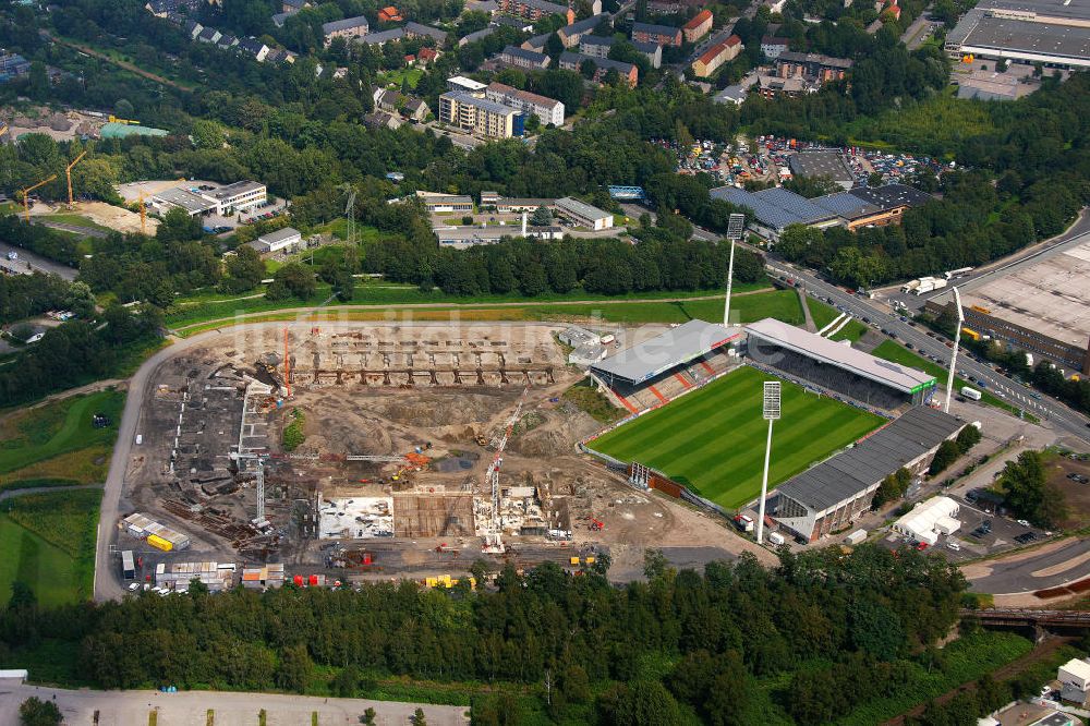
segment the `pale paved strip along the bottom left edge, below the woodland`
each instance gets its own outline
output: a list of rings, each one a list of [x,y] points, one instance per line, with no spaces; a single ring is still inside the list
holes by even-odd
[[[368,707],[377,713],[375,723],[385,725],[411,724],[415,703],[397,701],[367,701],[364,699],[322,699],[280,693],[229,693],[222,691],[185,691],[159,693],[158,691],[78,691],[27,686],[13,680],[0,680],[0,724],[17,724],[20,704],[37,697],[44,701],[56,700],[65,724],[109,724],[110,726],[147,726],[149,714],[156,711],[159,726],[211,723],[208,712],[214,711],[216,726],[251,726],[258,721],[264,709],[269,726],[299,726],[310,724],[312,714],[318,714],[318,724],[359,724]],[[56,699],[55,699],[56,697]],[[420,704],[428,724],[456,726],[468,723],[467,706]],[[96,719],[95,715],[98,714]]]

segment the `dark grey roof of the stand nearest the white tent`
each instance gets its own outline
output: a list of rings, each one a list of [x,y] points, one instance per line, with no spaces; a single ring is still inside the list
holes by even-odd
[[[935,448],[962,425],[936,409],[909,409],[853,448],[792,476],[776,491],[815,511],[832,509]]]

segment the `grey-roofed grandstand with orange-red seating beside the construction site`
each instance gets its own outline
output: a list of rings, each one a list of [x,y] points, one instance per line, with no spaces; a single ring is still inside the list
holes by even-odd
[[[725,372],[730,360],[723,349],[740,337],[722,325],[689,320],[600,361],[590,373],[635,413]]]

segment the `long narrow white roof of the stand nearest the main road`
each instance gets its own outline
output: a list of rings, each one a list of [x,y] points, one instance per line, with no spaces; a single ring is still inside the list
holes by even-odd
[[[934,376],[907,365],[884,361],[816,332],[809,332],[772,317],[746,326],[746,332],[821,363],[844,368],[869,380],[915,394],[935,385]]]

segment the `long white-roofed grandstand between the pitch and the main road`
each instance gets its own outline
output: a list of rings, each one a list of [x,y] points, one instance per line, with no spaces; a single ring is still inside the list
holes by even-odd
[[[834,390],[861,403],[896,409],[930,401],[935,378],[884,361],[775,318],[746,326],[748,353],[756,363]]]

